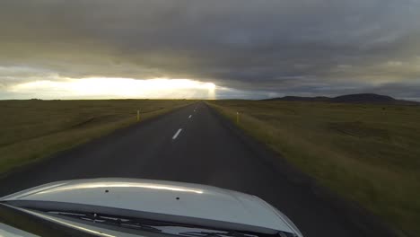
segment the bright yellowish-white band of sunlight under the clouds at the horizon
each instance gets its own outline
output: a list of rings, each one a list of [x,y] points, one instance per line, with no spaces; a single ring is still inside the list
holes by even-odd
[[[151,99],[214,99],[217,86],[190,79],[90,77],[59,78],[20,83],[9,89],[36,97],[70,98],[151,98]]]

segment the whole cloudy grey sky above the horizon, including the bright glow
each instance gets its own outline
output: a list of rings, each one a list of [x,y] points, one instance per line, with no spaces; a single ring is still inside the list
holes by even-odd
[[[420,101],[420,0],[1,0],[0,99]]]

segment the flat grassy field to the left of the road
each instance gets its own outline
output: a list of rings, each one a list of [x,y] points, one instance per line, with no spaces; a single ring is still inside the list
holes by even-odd
[[[191,101],[0,101],[0,174]]]

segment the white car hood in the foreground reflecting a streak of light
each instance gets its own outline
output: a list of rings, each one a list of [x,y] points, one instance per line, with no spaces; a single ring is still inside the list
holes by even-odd
[[[26,189],[0,200],[109,206],[299,233],[287,217],[260,198],[232,190],[181,182],[136,179],[66,180]]]

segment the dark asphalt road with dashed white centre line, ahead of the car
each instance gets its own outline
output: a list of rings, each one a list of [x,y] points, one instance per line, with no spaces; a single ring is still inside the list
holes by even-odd
[[[197,102],[17,171],[0,180],[0,197],[56,180],[185,181],[263,198],[288,215],[305,236],[368,236],[312,189],[286,178],[281,165],[263,145]]]

